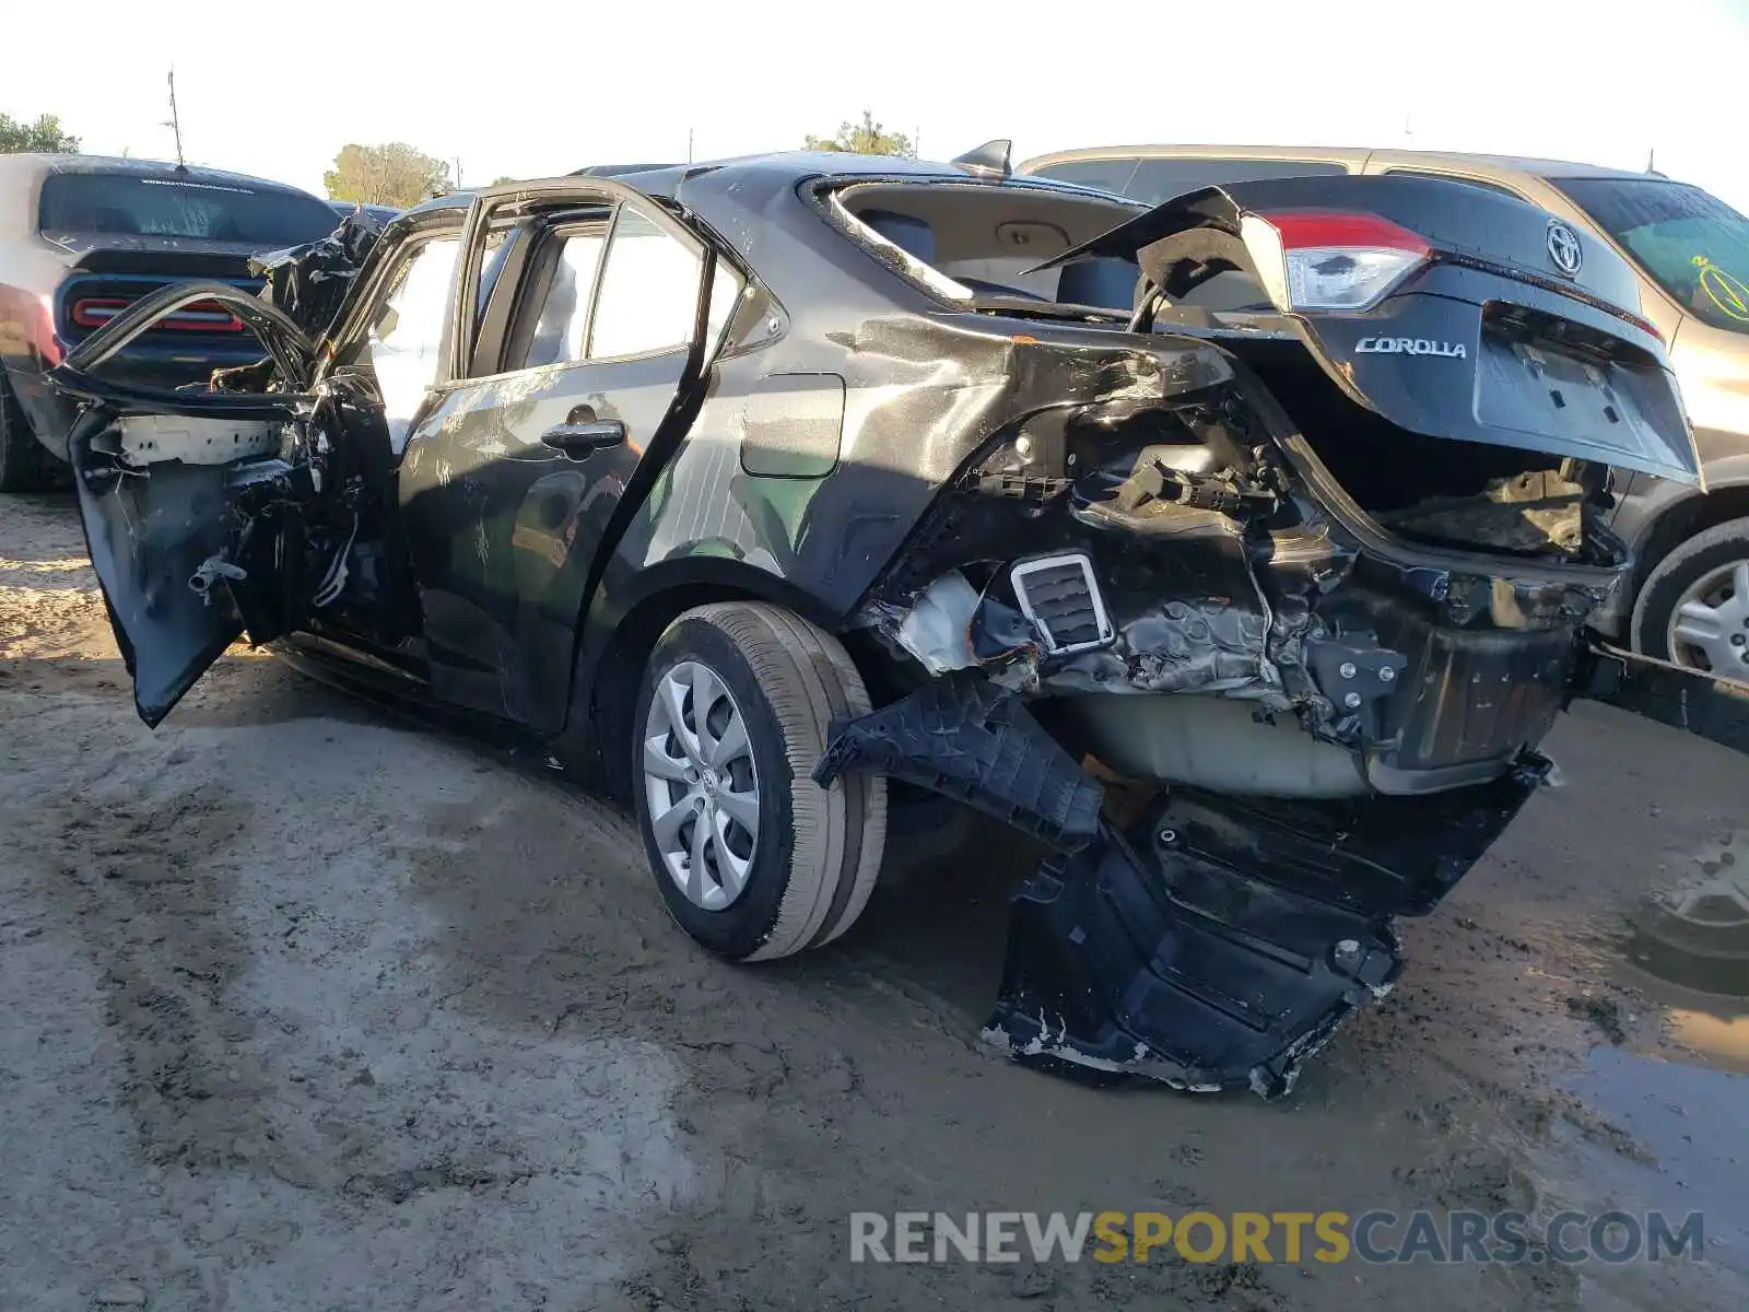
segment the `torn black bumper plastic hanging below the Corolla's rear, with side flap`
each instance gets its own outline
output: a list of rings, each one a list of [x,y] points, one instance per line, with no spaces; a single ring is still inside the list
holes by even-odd
[[[1543,782],[1523,752],[1424,798],[1258,805],[1175,789],[1126,831],[1020,700],[957,673],[834,728],[815,770],[955,796],[1055,852],[1014,894],[983,1037],[1109,1083],[1289,1092],[1307,1058],[1403,971],[1394,918],[1432,910]]]

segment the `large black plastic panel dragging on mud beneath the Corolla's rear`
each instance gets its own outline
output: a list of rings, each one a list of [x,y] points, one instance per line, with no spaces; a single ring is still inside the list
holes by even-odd
[[[1021,887],[983,1037],[1091,1083],[1287,1093],[1401,973],[1392,917],[1431,910],[1546,768],[1361,806],[1265,812],[1184,789]]]

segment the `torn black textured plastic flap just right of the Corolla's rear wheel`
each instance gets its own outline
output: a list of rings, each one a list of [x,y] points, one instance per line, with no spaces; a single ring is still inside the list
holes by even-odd
[[[955,670],[890,707],[834,724],[813,782],[831,787],[845,770],[932,789],[1062,850],[1098,833],[1100,785],[1014,693],[978,670]]]

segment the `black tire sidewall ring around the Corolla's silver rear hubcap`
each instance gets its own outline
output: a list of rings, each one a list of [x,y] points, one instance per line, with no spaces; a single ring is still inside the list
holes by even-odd
[[[747,721],[747,740],[752,745],[754,770],[759,773],[759,833],[754,864],[742,896],[721,911],[707,911],[689,903],[668,875],[661,852],[656,848],[649,794],[644,787],[644,738],[649,733],[656,686],[682,661],[698,661],[729,689],[735,705],[740,707]],[[794,784],[784,729],[771,703],[754,680],[747,658],[714,625],[703,619],[680,619],[656,644],[638,684],[638,707],[631,735],[631,794],[637,806],[638,834],[644,838],[651,876],[656,880],[663,904],[687,934],[715,953],[742,960],[756,952],[777,925],[796,847],[794,808],[791,805]]]

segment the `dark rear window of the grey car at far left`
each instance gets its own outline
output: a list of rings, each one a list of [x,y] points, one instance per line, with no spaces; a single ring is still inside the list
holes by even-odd
[[[262,250],[315,241],[338,224],[315,196],[117,173],[51,173],[38,210],[44,233],[243,241]]]

